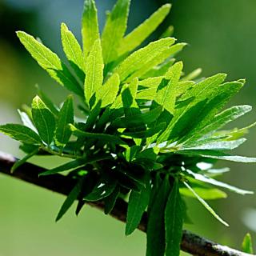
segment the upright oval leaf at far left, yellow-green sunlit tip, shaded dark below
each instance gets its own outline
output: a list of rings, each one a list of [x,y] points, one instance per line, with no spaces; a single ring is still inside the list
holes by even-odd
[[[40,137],[47,145],[50,145],[54,139],[55,118],[38,96],[32,102],[32,117]]]

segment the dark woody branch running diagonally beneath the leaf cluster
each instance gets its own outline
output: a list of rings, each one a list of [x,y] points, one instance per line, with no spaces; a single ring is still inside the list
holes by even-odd
[[[74,180],[61,174],[50,176],[42,176],[38,178],[38,174],[45,171],[43,168],[34,166],[28,162],[15,170],[14,174],[10,173],[11,166],[17,158],[10,154],[0,152],[0,173],[7,174],[11,177],[21,179],[22,181],[30,182],[34,185],[41,186],[47,190],[52,190],[60,194],[69,194],[74,187]],[[88,202],[90,206],[94,206],[99,210],[104,210],[104,202]],[[126,222],[127,203],[118,198],[111,216],[119,221]],[[142,216],[142,222],[138,226],[139,230],[146,231],[147,215]],[[219,245],[211,242],[206,238],[199,237],[190,231],[183,230],[181,249],[187,253],[198,256],[249,256],[250,254],[242,253],[241,251],[231,249],[227,246]]]

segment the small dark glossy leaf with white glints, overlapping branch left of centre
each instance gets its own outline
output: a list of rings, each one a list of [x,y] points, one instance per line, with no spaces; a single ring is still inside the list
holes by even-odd
[[[86,201],[95,202],[108,197],[117,186],[117,181],[112,178],[102,178],[94,189],[84,198]]]

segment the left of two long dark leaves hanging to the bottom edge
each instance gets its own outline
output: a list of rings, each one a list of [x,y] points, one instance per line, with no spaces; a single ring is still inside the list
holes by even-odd
[[[169,177],[162,181],[150,206],[146,230],[146,256],[163,256],[165,254],[165,215],[166,201],[170,194]]]

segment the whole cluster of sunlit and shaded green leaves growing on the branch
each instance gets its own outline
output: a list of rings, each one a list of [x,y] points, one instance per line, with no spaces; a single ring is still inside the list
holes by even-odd
[[[36,154],[71,159],[41,174],[68,171],[77,180],[57,220],[76,199],[76,214],[85,202],[98,200],[109,214],[118,197],[129,196],[126,235],[146,211],[146,255],[175,256],[186,220],[184,197],[198,198],[228,226],[205,200],[226,198],[220,189],[252,194],[219,182],[215,178],[226,169],[213,169],[217,159],[256,162],[226,152],[246,141],[242,137],[250,126],[221,130],[251,107],[222,110],[244,80],[225,82],[226,74],[197,78],[200,70],[185,76],[174,56],[186,44],[175,43],[171,27],[139,48],[169,13],[169,4],[125,35],[129,6],[130,0],[118,0],[100,36],[94,0],[85,0],[82,47],[66,24],[61,26],[67,65],[42,42],[18,31],[38,64],[78,96],[84,118],[74,116],[72,96],[58,107],[38,90],[31,108],[19,111],[23,125],[2,125],[0,131],[21,142],[27,154],[13,170]],[[244,250],[249,251],[246,239]]]

